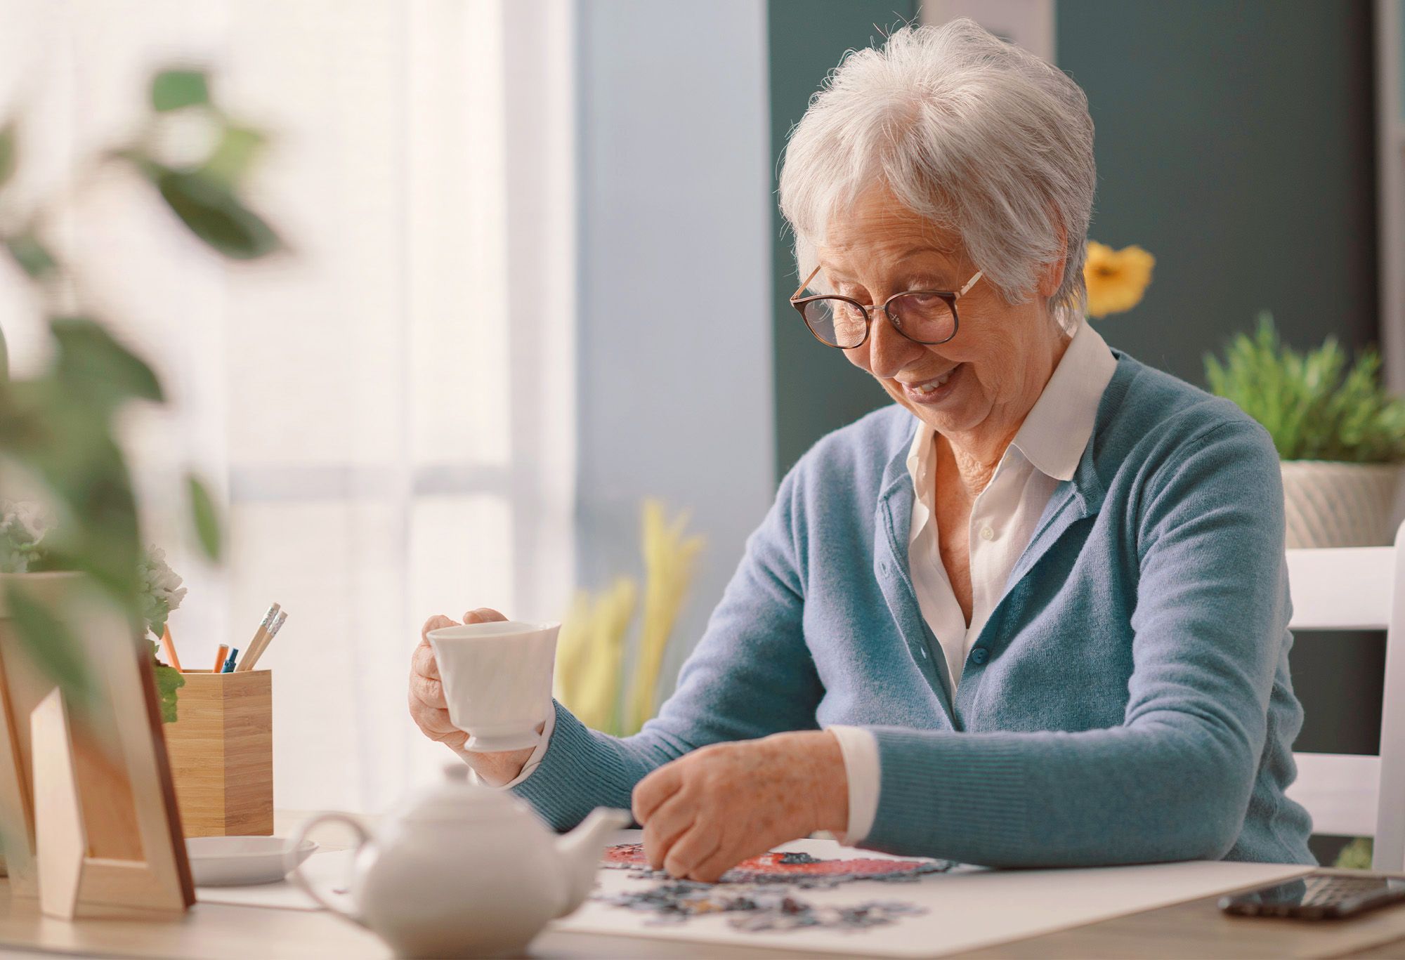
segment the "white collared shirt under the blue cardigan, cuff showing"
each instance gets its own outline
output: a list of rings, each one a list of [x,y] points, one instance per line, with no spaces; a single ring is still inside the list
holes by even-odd
[[[1117,369],[1107,342],[1087,323],[1073,334],[1054,375],[995,467],[995,474],[971,505],[967,531],[971,560],[971,623],[967,623],[937,549],[936,431],[917,424],[908,452],[912,477],[912,525],[908,566],[922,618],[941,646],[955,700],[967,654],[1059,483],[1073,472],[1093,436],[1097,404]],[[934,653],[934,651],[933,651]],[[846,844],[857,844],[873,828],[878,811],[878,742],[863,727],[832,726],[844,756],[849,780]]]

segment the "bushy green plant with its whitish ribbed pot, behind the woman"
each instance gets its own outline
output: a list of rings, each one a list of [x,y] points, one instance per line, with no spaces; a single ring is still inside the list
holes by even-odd
[[[1280,342],[1269,313],[1224,358],[1205,355],[1210,390],[1263,424],[1283,462],[1288,547],[1380,546],[1405,465],[1405,400],[1380,382],[1367,348],[1347,368],[1333,337],[1308,354]]]

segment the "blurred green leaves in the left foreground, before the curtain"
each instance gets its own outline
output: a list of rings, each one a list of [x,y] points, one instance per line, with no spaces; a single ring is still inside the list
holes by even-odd
[[[204,131],[207,143],[194,159],[171,160],[160,145],[181,125]],[[136,133],[93,157],[74,187],[81,188],[84,177],[125,167],[205,247],[228,260],[256,260],[282,247],[274,229],[240,196],[240,184],[264,143],[263,133],[218,107],[204,70],[160,70],[152,77],[149,112]],[[13,119],[0,128],[0,246],[32,288],[53,349],[35,376],[10,379],[0,330],[0,497],[20,500],[4,487],[21,487],[25,498],[42,498],[55,514],[44,566],[87,574],[128,616],[133,632],[145,633],[143,625],[150,625],[145,615],[152,609],[149,566],[143,573],[136,501],[114,425],[129,404],[162,404],[164,393],[146,361],[110,333],[96,302],[84,298],[79,268],[51,244],[53,198],[22,218],[3,216],[20,206],[4,204],[20,152],[20,124]],[[185,490],[197,539],[218,560],[214,501],[195,473],[188,474]],[[80,702],[86,699],[91,678],[67,627],[25,594],[22,577],[6,578],[6,599],[15,633],[37,662]],[[173,698],[177,679],[176,671],[159,671],[157,685]]]

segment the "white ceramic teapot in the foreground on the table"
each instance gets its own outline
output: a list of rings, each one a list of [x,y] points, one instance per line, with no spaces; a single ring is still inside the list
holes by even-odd
[[[346,814],[298,828],[296,851],[320,822],[360,836],[348,912],[322,897],[296,866],[289,874],[312,900],[377,933],[400,957],[516,956],[547,921],[575,911],[590,893],[610,834],[625,810],[597,807],[556,836],[528,804],[506,790],[468,783],[468,766],[391,815],[375,835]]]

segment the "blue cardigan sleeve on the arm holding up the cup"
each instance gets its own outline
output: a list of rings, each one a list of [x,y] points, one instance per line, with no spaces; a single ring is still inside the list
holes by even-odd
[[[742,561],[679,672],[659,716],[632,737],[587,728],[555,705],[541,765],[513,792],[556,829],[599,806],[629,808],[634,785],[652,769],[707,744],[813,730],[823,695],[801,623],[804,582],[795,560],[797,465],[747,538]]]

